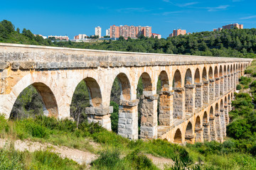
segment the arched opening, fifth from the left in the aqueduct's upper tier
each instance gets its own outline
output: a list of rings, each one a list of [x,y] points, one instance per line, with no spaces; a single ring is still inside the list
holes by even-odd
[[[158,123],[159,125],[171,125],[173,120],[171,113],[171,94],[169,92],[169,78],[165,71],[159,74],[159,79],[156,88],[159,94],[158,100]]]

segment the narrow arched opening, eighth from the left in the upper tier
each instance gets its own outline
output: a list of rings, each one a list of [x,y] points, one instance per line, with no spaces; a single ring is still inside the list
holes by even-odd
[[[195,108],[203,106],[203,84],[201,83],[199,69],[196,69],[194,82],[196,84]]]

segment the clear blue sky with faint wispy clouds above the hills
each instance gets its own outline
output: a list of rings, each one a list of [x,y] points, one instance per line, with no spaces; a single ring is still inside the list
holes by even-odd
[[[102,35],[111,25],[151,26],[166,38],[172,30],[213,30],[228,23],[256,28],[255,0],[129,0],[129,1],[8,1],[1,0],[0,21],[41,35]]]

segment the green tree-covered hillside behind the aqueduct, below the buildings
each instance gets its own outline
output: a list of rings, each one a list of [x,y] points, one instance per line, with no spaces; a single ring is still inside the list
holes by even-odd
[[[53,40],[53,39],[51,39]],[[117,50],[129,52],[156,52],[182,55],[203,55],[221,57],[256,57],[256,29],[204,31],[174,38],[139,37],[137,40],[105,42],[51,42],[34,36],[30,30],[16,28],[10,21],[0,23],[0,42],[50,45],[58,47],[78,47],[96,50]]]

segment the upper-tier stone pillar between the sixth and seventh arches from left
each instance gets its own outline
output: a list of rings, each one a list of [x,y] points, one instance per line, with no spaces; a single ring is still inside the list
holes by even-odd
[[[174,119],[185,118],[185,88],[175,87],[174,88]]]

